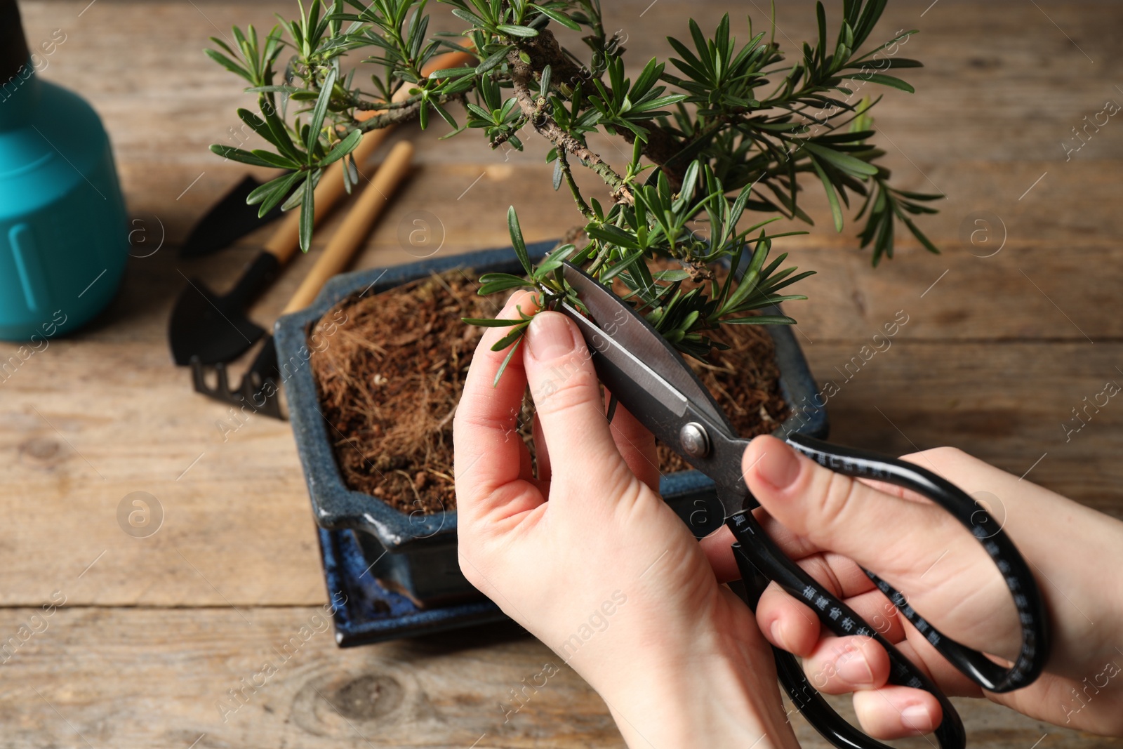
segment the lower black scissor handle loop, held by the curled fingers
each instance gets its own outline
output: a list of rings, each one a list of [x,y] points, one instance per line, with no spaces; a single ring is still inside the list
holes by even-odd
[[[967,734],[959,713],[942,692],[920,672],[907,658],[880,636],[879,632],[859,616],[852,609],[824,590],[814,578],[784,556],[768,535],[757,523],[751,511],[739,512],[728,518],[725,524],[733,531],[737,566],[741,570],[747,599],[746,603],[756,610],[760,594],[775,581],[794,597],[809,603],[820,621],[839,637],[871,637],[885,648],[889,657],[889,682],[931,693],[940,703],[943,719],[935,729],[937,740],[942,749],[964,749]],[[842,719],[830,703],[823,700],[803,673],[800,661],[789,652],[773,648],[776,672],[788,697],[800,713],[819,733],[839,749],[892,749],[877,739],[867,736]]]

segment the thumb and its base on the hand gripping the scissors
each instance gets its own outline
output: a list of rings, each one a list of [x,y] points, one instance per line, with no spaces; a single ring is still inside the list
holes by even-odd
[[[938,615],[933,623],[946,634],[980,645],[974,631],[980,612],[971,609],[974,596],[965,591],[983,593],[999,606],[1005,600],[1016,629],[997,568],[971,533],[941,508],[837,474],[774,437],[752,440],[742,467],[749,491],[768,514],[814,547],[876,573],[917,611]]]

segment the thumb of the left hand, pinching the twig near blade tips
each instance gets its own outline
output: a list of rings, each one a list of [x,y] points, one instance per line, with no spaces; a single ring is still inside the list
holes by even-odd
[[[550,456],[551,483],[588,486],[591,481],[631,477],[609,430],[596,371],[577,326],[560,312],[536,314],[527,330],[523,366]]]

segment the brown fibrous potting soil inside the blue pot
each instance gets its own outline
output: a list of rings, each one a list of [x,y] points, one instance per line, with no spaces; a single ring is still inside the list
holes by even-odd
[[[312,331],[330,340],[312,354],[311,366],[350,490],[407,512],[456,509],[453,414],[483,335],[460,318],[497,311],[494,298],[475,293],[475,277],[450,271],[377,295],[353,295]],[[723,326],[712,337],[730,348],[707,363],[687,362],[742,437],[773,431],[788,409],[772,337],[745,325]],[[520,436],[533,455],[530,413],[527,403]],[[688,467],[669,448],[658,450],[664,473]]]

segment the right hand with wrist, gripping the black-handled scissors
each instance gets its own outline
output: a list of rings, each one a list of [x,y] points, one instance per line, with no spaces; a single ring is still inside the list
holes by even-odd
[[[1123,522],[953,448],[904,457],[987,505],[1017,546],[1044,597],[1052,652],[1032,685],[985,693],[933,648],[860,569],[902,591],[944,636],[1012,660],[1021,646],[1013,601],[982,545],[926,499],[856,481],[772,437],[745,453],[758,517],[784,551],[846,601],[948,695],[986,696],[1031,718],[1123,736]],[[767,515],[765,514],[767,513]],[[736,577],[723,529],[703,541],[719,574]],[[926,692],[887,684],[888,658],[871,638],[837,638],[775,583],[757,606],[760,631],[804,659],[809,681],[853,693],[862,728],[894,739],[926,733],[940,706]]]

